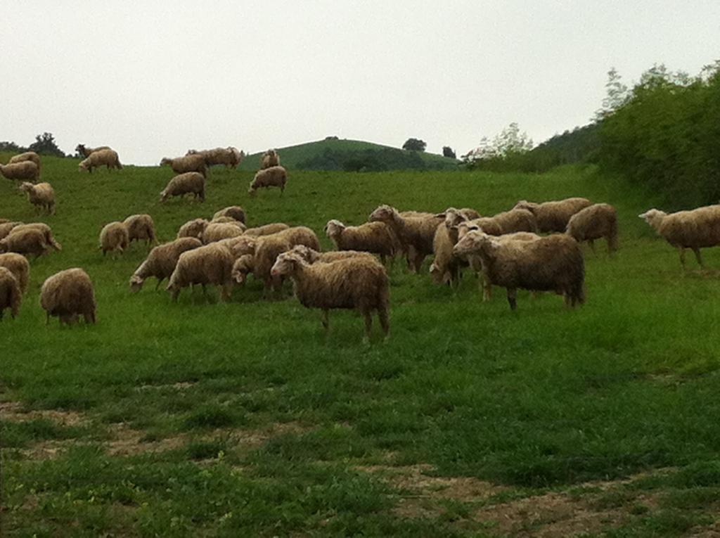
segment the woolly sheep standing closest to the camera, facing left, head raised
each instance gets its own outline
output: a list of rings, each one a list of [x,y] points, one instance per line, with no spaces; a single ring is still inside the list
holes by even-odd
[[[385,339],[390,333],[390,284],[387,272],[377,260],[364,257],[308,264],[300,254],[280,254],[272,266],[274,278],[288,276],[294,284],[295,297],[305,308],[323,310],[323,327],[327,333],[331,308],[356,308],[365,318],[364,341],[369,341],[372,312],[377,316]]]

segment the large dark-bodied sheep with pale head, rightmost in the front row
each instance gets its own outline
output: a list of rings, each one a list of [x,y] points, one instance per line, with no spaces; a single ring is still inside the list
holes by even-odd
[[[507,290],[510,310],[517,308],[518,287],[562,293],[569,306],[585,302],[585,261],[580,245],[570,236],[554,234],[531,241],[503,241],[482,230],[472,230],[453,251],[480,256],[489,284]]]

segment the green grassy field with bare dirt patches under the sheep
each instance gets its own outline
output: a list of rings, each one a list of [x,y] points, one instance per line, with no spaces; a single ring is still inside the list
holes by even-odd
[[[6,162],[8,156],[0,156]],[[652,197],[594,169],[294,172],[247,196],[252,171],[213,169],[204,204],[158,193],[172,172],[80,174],[46,158],[63,251],[32,261],[0,323],[3,536],[611,536],[718,532],[720,252],[699,272],[636,215]],[[100,228],[135,212],[162,240],[226,205],[251,225],[319,235],[380,203],[475,207],[583,195],[618,207],[621,250],[586,251],[588,302],[503,290],[482,303],[427,272],[391,272],[391,336],[267,302],[252,279],[217,304],[127,281],[146,254],[103,258]],[[9,181],[0,217],[36,220]],[[329,247],[326,238],[323,245]],[[690,256],[691,257],[691,256]],[[45,326],[42,281],[82,266],[95,326]],[[425,271],[428,262],[426,261]],[[703,534],[705,533],[705,534]]]

